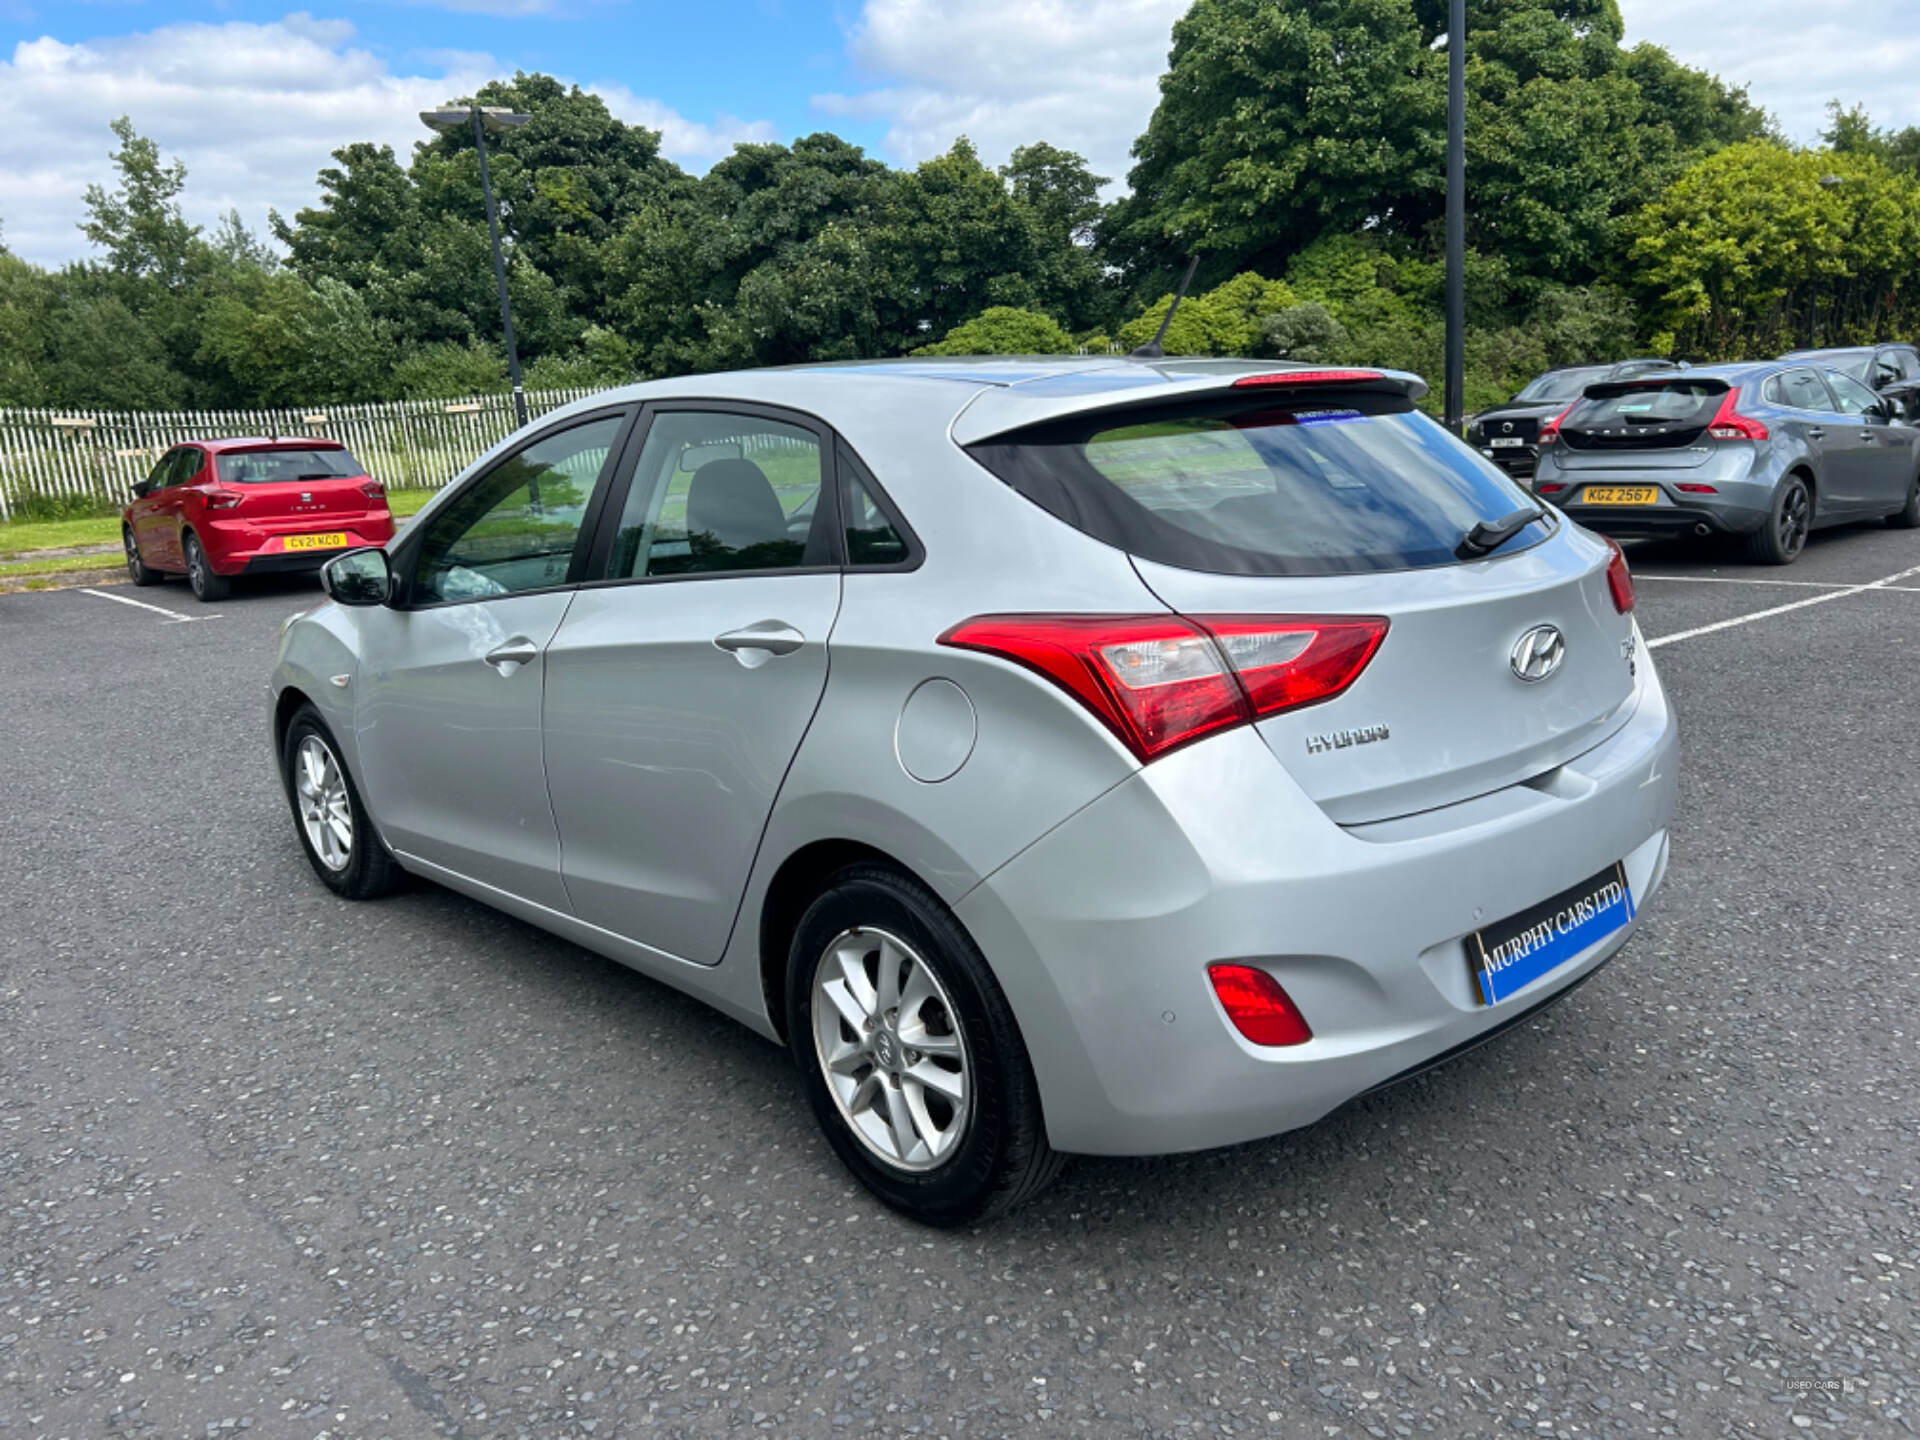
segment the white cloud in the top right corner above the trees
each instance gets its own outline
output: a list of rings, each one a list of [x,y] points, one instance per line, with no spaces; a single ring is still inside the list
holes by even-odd
[[[1920,125],[1920,6],[1912,0],[1620,0],[1628,44],[1653,40],[1772,111],[1812,144],[1826,102],[1864,104],[1880,127]]]

